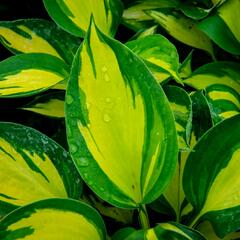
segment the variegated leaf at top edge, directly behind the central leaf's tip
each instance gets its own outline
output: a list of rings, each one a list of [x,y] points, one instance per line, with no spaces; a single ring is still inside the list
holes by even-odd
[[[49,15],[59,26],[79,37],[84,37],[91,15],[105,34],[114,36],[123,10],[120,0],[43,0],[43,2]]]

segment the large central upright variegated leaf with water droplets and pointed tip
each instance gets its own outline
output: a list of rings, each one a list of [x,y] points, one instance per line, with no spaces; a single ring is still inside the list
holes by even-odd
[[[144,63],[92,24],[66,101],[70,151],[88,185],[116,206],[156,199],[174,173],[178,149],[167,98]]]

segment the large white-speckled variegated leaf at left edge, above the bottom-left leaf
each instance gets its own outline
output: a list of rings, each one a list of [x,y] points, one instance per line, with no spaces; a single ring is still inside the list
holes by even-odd
[[[0,123],[0,165],[0,213],[40,199],[80,197],[69,154],[32,128]]]

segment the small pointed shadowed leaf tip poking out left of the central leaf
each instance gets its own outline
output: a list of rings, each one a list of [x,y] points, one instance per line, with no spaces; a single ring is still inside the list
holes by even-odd
[[[48,117],[64,118],[64,93],[48,93],[38,96],[21,109]]]

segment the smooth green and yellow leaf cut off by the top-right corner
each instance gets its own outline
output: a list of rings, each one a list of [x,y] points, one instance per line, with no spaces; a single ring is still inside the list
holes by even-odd
[[[237,55],[240,55],[239,9],[239,0],[228,0],[198,25],[218,46]]]

